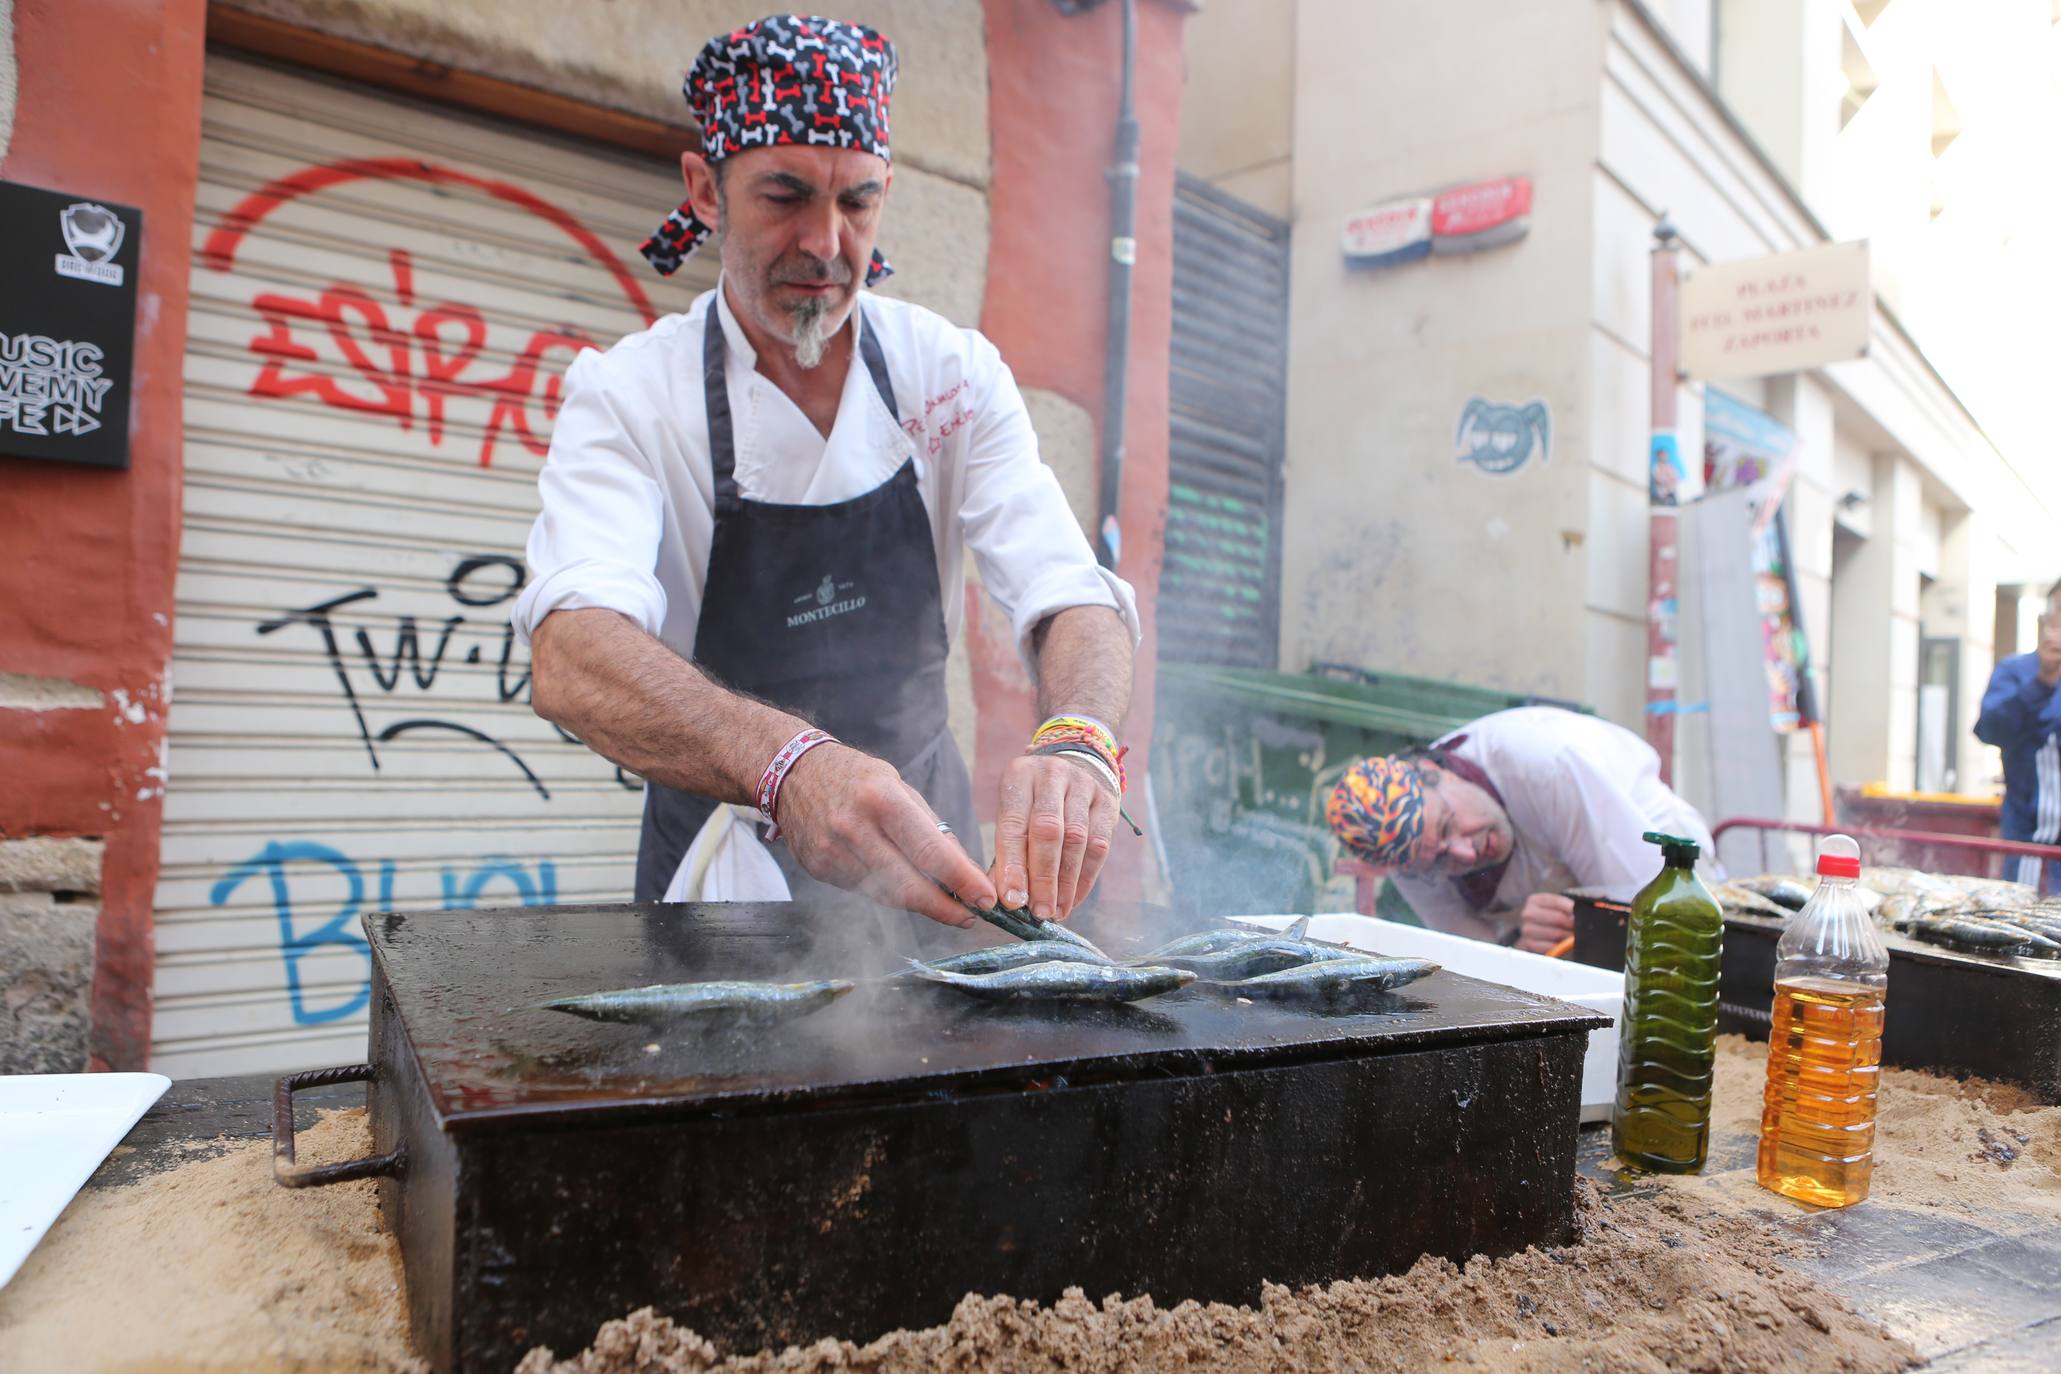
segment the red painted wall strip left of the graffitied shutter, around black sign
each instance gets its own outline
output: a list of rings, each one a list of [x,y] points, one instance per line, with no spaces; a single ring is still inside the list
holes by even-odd
[[[103,1069],[142,1069],[150,1053],[163,812],[163,772],[153,770],[163,764],[179,560],[204,29],[204,0],[14,4],[21,91],[0,177],[144,214],[128,472],[0,457],[0,672],[107,696],[99,711],[0,709],[0,834],[107,840],[93,976],[93,1059]]]

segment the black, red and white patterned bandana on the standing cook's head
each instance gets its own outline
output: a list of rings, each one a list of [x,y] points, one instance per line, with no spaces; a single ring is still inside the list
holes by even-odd
[[[711,163],[777,144],[861,148],[884,159],[897,66],[894,43],[866,25],[769,14],[709,39],[680,93],[701,124],[701,152]],[[682,204],[641,251],[672,276],[711,233],[695,206]],[[894,268],[874,249],[866,284],[890,272]]]

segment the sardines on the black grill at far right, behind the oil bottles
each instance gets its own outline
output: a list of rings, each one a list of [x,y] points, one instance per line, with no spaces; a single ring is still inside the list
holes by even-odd
[[[1762,873],[1713,884],[1727,913],[1787,919],[1810,900],[1801,878]],[[2061,896],[2022,882],[1871,867],[1857,884],[1876,923],[1964,954],[2061,960]]]

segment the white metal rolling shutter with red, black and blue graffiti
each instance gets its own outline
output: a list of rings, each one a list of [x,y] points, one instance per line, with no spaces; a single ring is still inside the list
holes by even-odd
[[[713,280],[649,161],[210,54],[153,1067],[354,1061],[359,913],[627,898],[507,610],[556,387]],[[328,610],[322,610],[328,608]]]

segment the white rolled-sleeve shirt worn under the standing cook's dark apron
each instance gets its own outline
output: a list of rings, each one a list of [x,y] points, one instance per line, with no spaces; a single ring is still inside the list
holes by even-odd
[[[703,293],[684,315],[668,315],[608,352],[581,352],[567,369],[565,406],[538,476],[544,509],[530,529],[530,583],[511,614],[523,643],[554,610],[600,606],[622,612],[674,653],[692,655],[715,531],[701,391],[709,309],[721,309],[730,344],[736,480],[746,499],[849,501],[913,457],[938,552],[948,643],[965,622],[969,548],[1033,676],[1030,632],[1072,606],[1109,606],[1138,641],[1129,583],[1096,564],[1059,480],[1039,459],[1016,379],[977,330],[861,293],[903,424],[853,348],[837,422],[824,439],[785,391],[758,375],[758,354],[719,299],[721,288]]]

